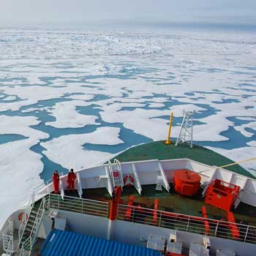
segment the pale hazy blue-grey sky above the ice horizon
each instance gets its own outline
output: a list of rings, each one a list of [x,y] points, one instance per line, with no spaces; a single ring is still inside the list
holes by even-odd
[[[250,23],[256,0],[0,0],[0,25]]]

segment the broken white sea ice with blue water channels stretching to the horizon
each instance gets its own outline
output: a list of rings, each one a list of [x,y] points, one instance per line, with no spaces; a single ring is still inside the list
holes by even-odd
[[[7,95],[0,102],[0,133],[26,137],[0,144],[0,175],[11,182],[0,189],[1,222],[18,203],[29,199],[29,189],[40,181],[42,155],[31,151],[32,146],[41,143],[48,159],[79,169],[112,156],[89,151],[86,143],[122,143],[118,138],[122,131],[114,127],[83,135],[61,135],[67,129],[60,128],[72,127],[70,132],[77,133],[85,126],[94,129],[91,124],[118,123],[163,140],[170,111],[179,120],[172,129],[176,137],[183,110],[196,110],[195,140],[214,141],[217,151],[234,160],[255,154],[255,34],[1,29],[0,36],[4,40],[0,91]],[[50,105],[55,99],[57,103]],[[48,100],[49,106],[37,104]],[[90,109],[93,116],[79,113],[79,106]],[[42,110],[56,118],[46,121],[55,129],[45,127]],[[32,129],[39,124],[34,113],[42,119],[40,128],[58,129],[59,137]],[[232,117],[248,122],[238,125],[229,121]],[[239,148],[219,149],[228,140],[222,132],[229,137],[241,132],[246,141],[252,140],[248,147],[239,141]],[[18,189],[7,195],[10,187]]]

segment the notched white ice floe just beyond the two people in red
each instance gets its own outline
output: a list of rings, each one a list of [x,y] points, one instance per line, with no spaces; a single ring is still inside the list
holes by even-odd
[[[120,129],[116,127],[99,127],[95,132],[81,135],[64,135],[54,138],[41,145],[45,148],[43,153],[53,162],[58,162],[67,169],[76,170],[97,165],[104,159],[111,157],[108,152],[87,150],[86,144],[118,145],[123,143],[118,138]],[[85,147],[83,147],[85,145]]]

